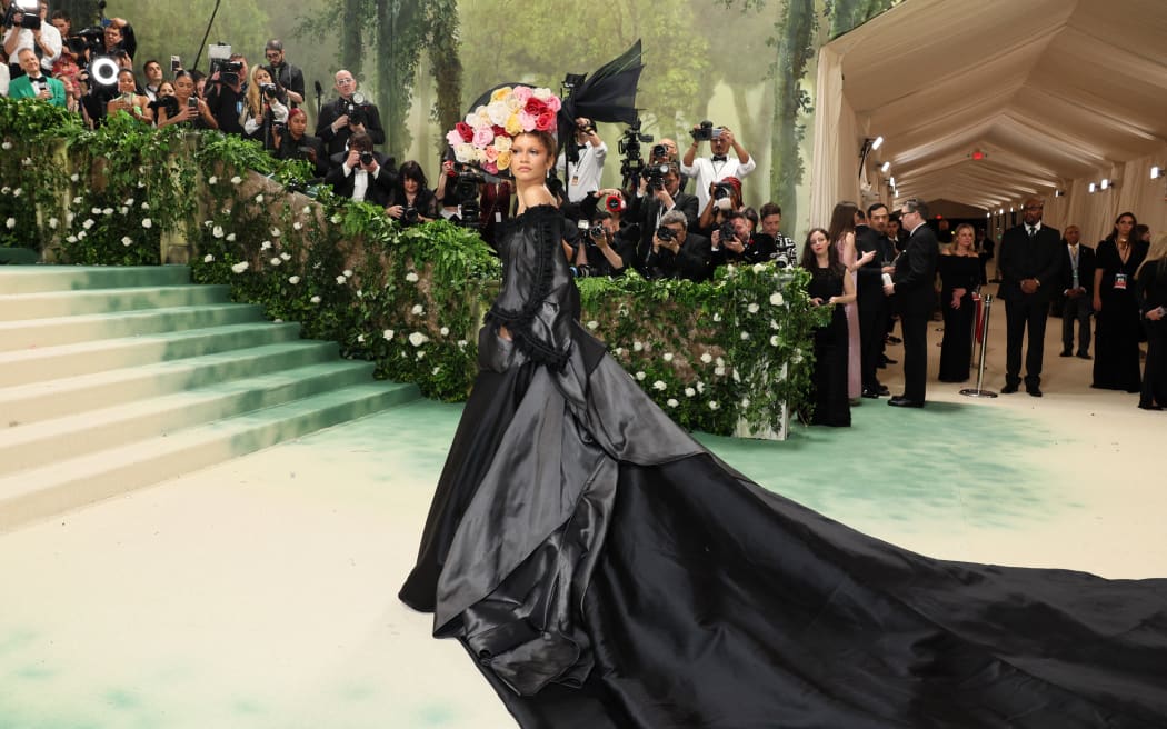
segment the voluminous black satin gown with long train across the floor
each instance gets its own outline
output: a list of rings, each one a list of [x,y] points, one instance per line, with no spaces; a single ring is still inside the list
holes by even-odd
[[[520,727],[1167,726],[1167,580],[932,560],[749,482],[579,325],[561,226],[498,241],[400,593]]]

